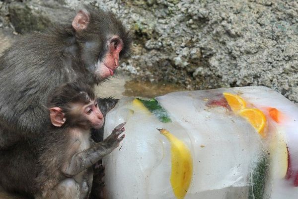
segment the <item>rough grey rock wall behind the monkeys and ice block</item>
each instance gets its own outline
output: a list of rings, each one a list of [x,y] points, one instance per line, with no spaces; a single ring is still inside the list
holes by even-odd
[[[112,10],[134,33],[121,65],[134,80],[263,85],[298,102],[297,0],[0,0],[0,29],[40,31],[83,3]]]

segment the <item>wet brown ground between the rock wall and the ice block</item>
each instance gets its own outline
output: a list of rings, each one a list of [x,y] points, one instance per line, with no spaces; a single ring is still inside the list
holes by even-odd
[[[17,36],[10,29],[0,28],[0,53],[8,48]],[[153,98],[174,91],[182,91],[183,89],[168,83],[136,82],[129,75],[118,71],[117,75],[101,83],[96,90],[98,97],[115,97],[120,99],[124,96]]]

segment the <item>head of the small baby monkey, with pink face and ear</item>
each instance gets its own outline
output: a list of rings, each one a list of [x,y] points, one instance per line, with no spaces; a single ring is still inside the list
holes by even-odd
[[[82,83],[66,83],[55,89],[47,108],[51,123],[57,127],[99,129],[104,123],[93,90]]]

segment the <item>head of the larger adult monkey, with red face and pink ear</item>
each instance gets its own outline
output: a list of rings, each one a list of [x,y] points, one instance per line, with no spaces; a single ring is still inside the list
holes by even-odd
[[[100,82],[113,76],[121,57],[128,56],[131,35],[111,12],[97,10],[90,15],[80,10],[73,20],[83,64]]]

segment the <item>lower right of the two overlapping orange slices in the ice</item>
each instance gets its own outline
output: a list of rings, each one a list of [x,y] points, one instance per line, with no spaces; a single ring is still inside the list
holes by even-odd
[[[244,108],[240,110],[239,115],[246,118],[249,123],[258,131],[260,135],[265,136],[264,128],[266,126],[266,116],[257,108]]]

